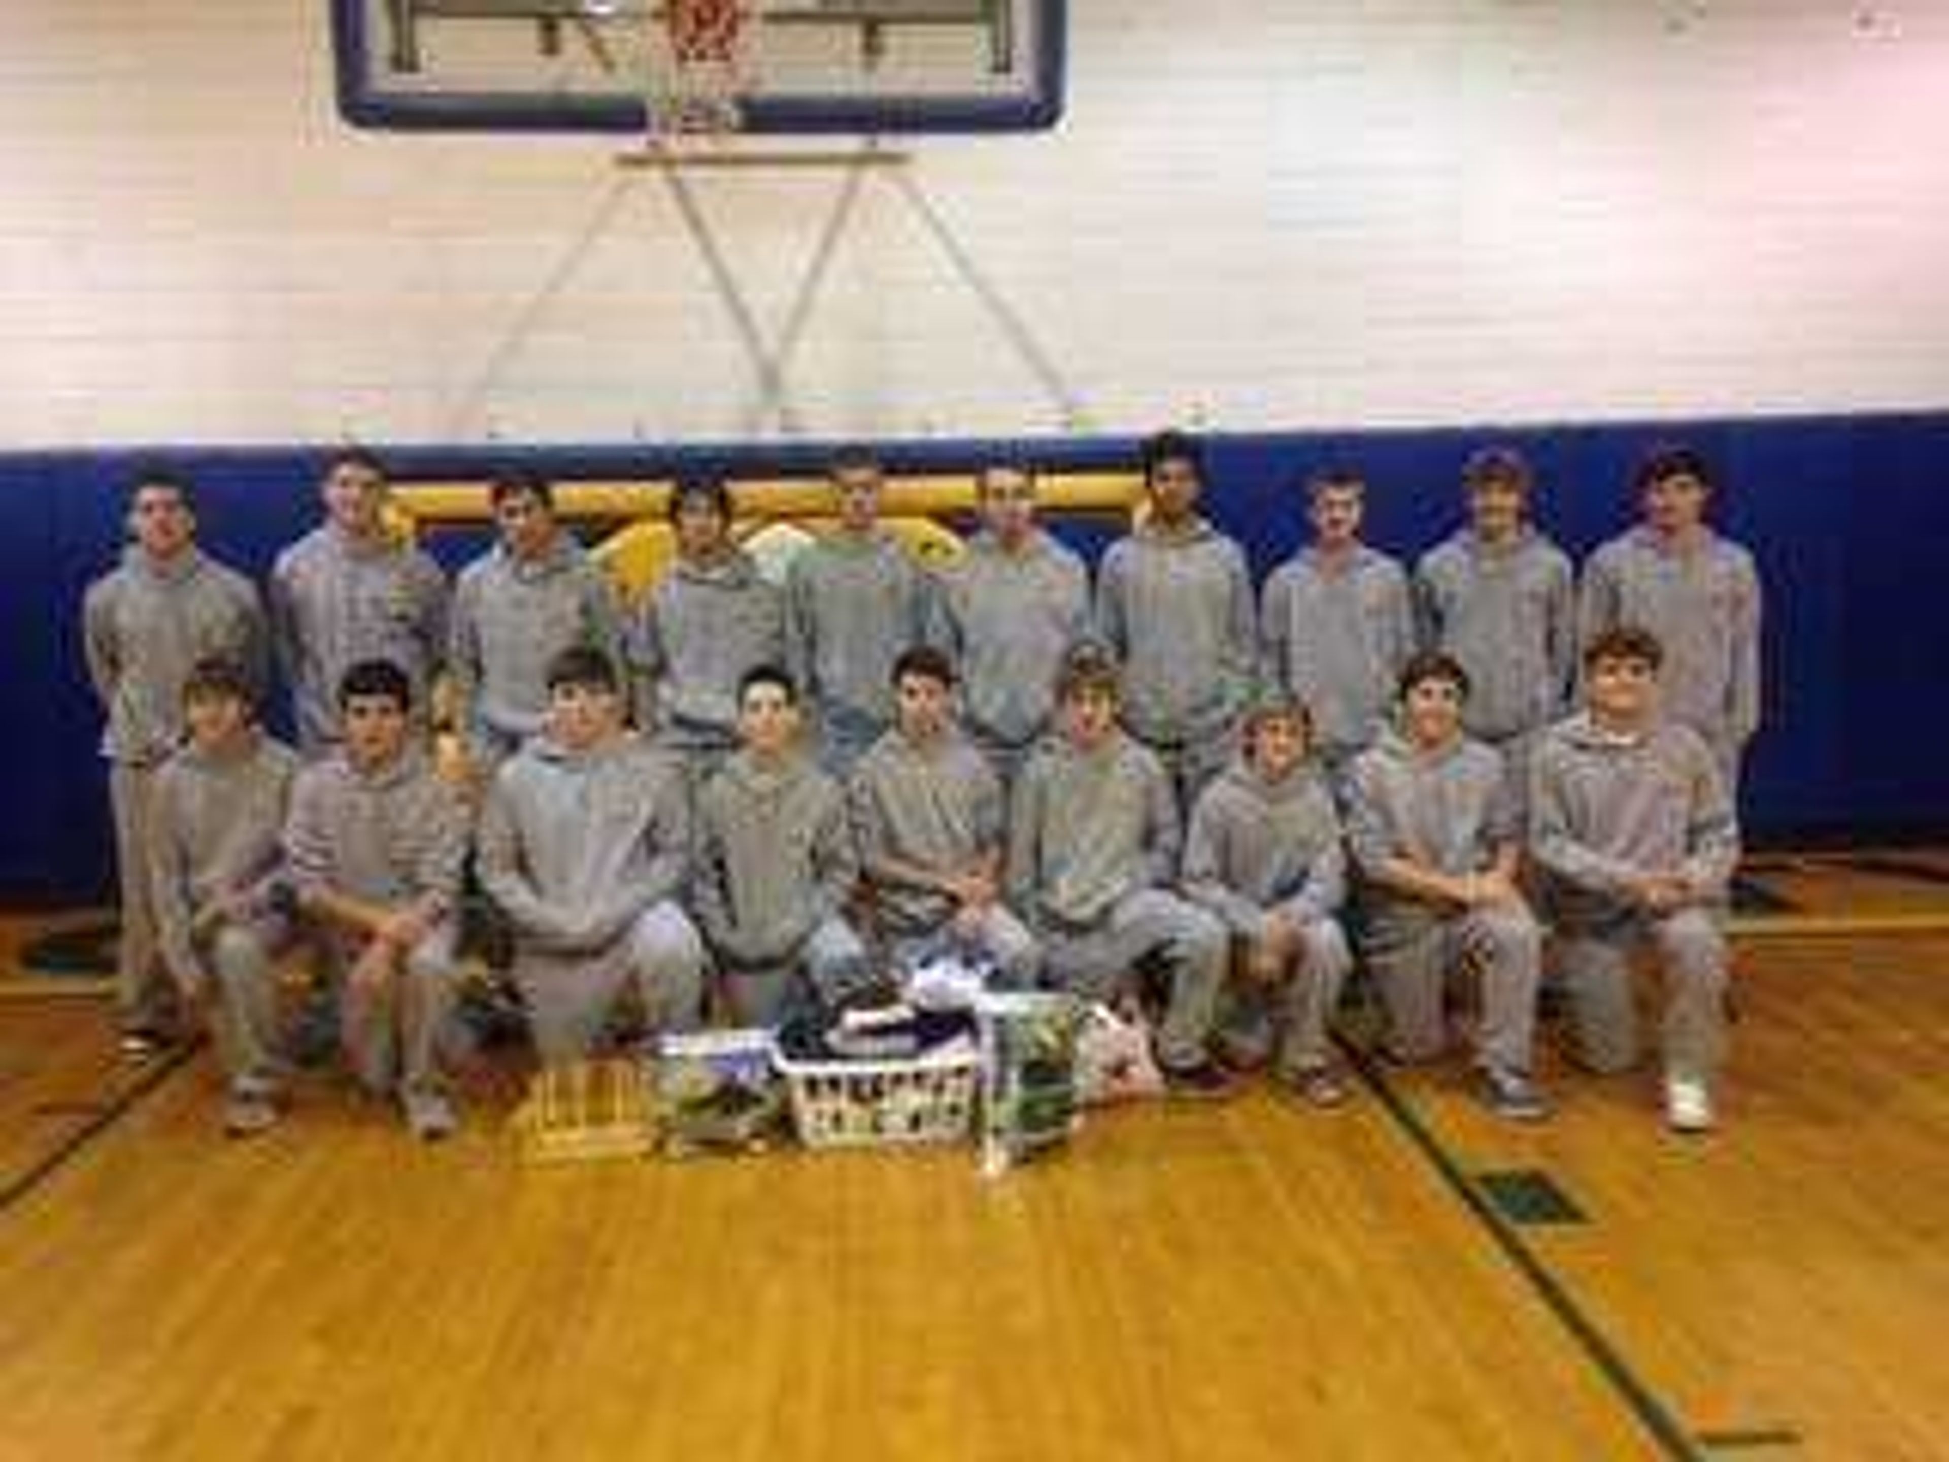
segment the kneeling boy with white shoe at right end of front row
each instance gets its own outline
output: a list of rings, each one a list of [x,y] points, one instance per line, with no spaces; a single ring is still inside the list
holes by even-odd
[[[1600,1072],[1637,1062],[1633,951],[1664,977],[1664,1117],[1713,1125],[1725,1053],[1721,916],[1739,823],[1705,741],[1659,713],[1659,641],[1606,630],[1585,651],[1585,710],[1538,747],[1530,850],[1561,940],[1579,1057]]]

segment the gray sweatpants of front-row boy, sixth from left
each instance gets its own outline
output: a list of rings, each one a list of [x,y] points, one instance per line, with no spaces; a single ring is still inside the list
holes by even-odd
[[[1197,904],[1144,889],[1121,899],[1095,928],[1043,930],[1043,984],[1084,1000],[1115,1000],[1136,967],[1162,961],[1171,994],[1158,1027],[1158,1060],[1197,1066],[1208,1051],[1224,992],[1230,936]]]

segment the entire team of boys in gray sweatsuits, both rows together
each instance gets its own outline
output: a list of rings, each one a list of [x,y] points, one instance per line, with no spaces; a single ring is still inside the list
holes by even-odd
[[[1261,585],[1201,513],[1199,439],[1140,470],[1093,575],[1015,462],[930,567],[881,462],[836,454],[836,526],[782,581],[729,485],[680,480],[639,602],[538,476],[493,480],[495,544],[448,583],[388,522],[386,466],[339,452],[259,587],[199,546],[191,481],[138,474],[82,604],[123,1049],[207,1027],[248,1136],[324,1018],[446,1136],[478,906],[544,1066],[838,1012],[947,955],[1130,1012],[1173,1097],[1263,1072],[1347,1101],[1358,994],[1380,1058],[1466,1062],[1491,1113],[1548,1119],[1575,1099],[1536,1078],[1553,1000],[1573,1066],[1643,1064],[1668,1129],[1711,1129],[1762,600],[1707,460],[1649,450],[1637,520],[1581,569],[1512,448],[1468,458],[1419,558],[1366,542],[1358,474],[1310,470]]]

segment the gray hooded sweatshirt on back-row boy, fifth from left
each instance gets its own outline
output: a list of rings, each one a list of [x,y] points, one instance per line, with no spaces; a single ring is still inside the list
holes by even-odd
[[[861,745],[893,721],[893,663],[924,643],[928,575],[889,532],[832,534],[785,571],[785,657],[824,725]]]

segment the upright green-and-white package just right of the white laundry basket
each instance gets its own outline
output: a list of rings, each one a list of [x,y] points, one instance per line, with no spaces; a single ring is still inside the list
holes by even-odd
[[[1082,1121],[1076,1035],[1082,1006],[1054,992],[998,992],[976,1006],[982,1051],[982,1158],[988,1177],[1060,1146]]]

